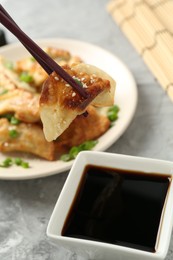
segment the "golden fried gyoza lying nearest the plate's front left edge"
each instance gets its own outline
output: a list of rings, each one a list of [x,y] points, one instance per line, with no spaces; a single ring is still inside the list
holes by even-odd
[[[18,136],[11,137],[11,130],[15,130]],[[0,119],[0,151],[28,152],[47,160],[53,160],[55,156],[54,144],[45,140],[40,125],[21,123],[12,126],[6,118]]]

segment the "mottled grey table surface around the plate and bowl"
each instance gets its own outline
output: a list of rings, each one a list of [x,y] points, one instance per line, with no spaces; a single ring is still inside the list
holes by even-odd
[[[118,56],[138,86],[135,116],[107,151],[173,160],[173,103],[106,11],[107,0],[1,1],[32,38],[73,38]],[[16,38],[6,31],[8,42]],[[1,260],[83,259],[53,245],[46,227],[68,172],[26,181],[0,181]],[[167,260],[173,259],[173,236]],[[139,259],[140,260],[140,259]]]

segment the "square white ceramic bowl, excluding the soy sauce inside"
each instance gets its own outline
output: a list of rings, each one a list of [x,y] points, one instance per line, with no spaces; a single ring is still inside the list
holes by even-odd
[[[157,249],[154,253],[125,246],[62,236],[62,229],[75,198],[83,171],[88,164],[123,170],[170,175],[173,163],[155,159],[139,158],[104,152],[81,152],[68,175],[50,218],[47,235],[56,244],[67,248],[86,259],[102,260],[161,260],[168,252],[173,225],[173,182],[170,181],[164,211],[159,226]],[[171,178],[172,179],[172,178]]]

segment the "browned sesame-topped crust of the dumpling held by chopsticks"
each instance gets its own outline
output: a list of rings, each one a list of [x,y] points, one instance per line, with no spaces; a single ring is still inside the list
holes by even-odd
[[[54,105],[63,106],[69,110],[78,110],[83,112],[97,95],[105,89],[110,89],[110,82],[86,73],[78,73],[73,67],[64,66],[66,72],[75,80],[82,83],[88,98],[83,98],[76,92],[66,81],[53,72],[50,77],[44,82],[43,90],[40,97],[40,106]]]

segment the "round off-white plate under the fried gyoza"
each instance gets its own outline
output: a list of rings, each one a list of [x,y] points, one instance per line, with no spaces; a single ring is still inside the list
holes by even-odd
[[[99,142],[94,148],[96,151],[105,151],[124,133],[135,113],[138,95],[132,74],[116,56],[89,43],[71,39],[45,39],[39,40],[37,43],[42,47],[56,46],[69,50],[73,55],[80,56],[86,63],[106,71],[116,80],[115,103],[120,107],[119,119],[99,138]],[[15,61],[28,56],[28,53],[20,43],[17,43],[1,47],[0,55]],[[4,158],[6,156],[0,154],[0,162]],[[62,162],[59,160],[49,162],[36,157],[26,157],[26,159],[30,164],[29,169],[17,166],[0,168],[0,179],[17,180],[45,177],[69,170],[73,163],[73,161]]]

